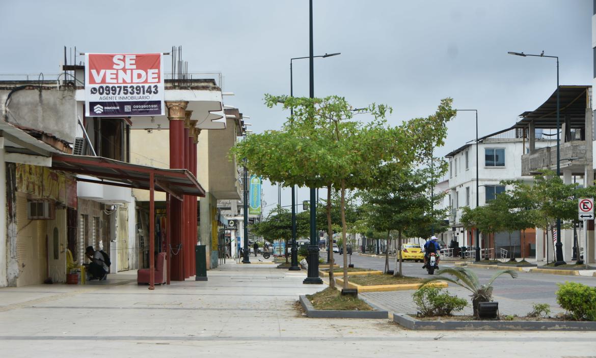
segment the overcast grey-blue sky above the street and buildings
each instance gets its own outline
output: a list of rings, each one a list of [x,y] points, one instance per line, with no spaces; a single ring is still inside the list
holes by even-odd
[[[313,1],[315,96],[394,109],[390,122],[432,114],[441,98],[479,110],[479,134],[510,127],[561,84],[591,84],[592,1]],[[2,1],[0,73],[57,73],[63,46],[80,52],[166,52],[181,45],[191,72],[218,71],[225,104],[252,129],[279,128],[287,113],[263,94],[289,94],[290,58],[308,56],[308,1]],[[294,62],[294,95],[308,96],[308,59]],[[367,118],[362,117],[362,120]],[[449,124],[439,155],[473,139],[474,114]],[[265,185],[267,203],[277,189]],[[290,203],[289,189],[282,205]],[[299,200],[308,190],[299,190]],[[267,211],[269,208],[266,208]]]

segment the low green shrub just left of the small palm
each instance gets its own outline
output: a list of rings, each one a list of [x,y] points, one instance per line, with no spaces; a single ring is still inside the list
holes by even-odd
[[[451,296],[442,288],[424,286],[412,294],[418,312],[423,317],[451,316],[452,312],[461,311],[468,302],[457,296]]]

